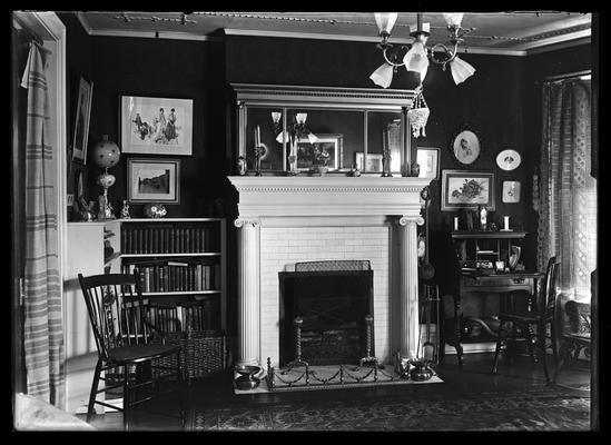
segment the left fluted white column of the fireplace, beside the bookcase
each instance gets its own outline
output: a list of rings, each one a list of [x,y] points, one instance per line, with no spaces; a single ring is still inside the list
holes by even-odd
[[[260,221],[236,219],[238,230],[238,359],[237,365],[259,364],[259,241]]]

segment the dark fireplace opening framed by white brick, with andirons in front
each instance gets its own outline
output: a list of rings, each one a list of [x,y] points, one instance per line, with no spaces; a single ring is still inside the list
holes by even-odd
[[[367,260],[297,263],[279,273],[279,363],[297,358],[309,365],[358,364],[367,355],[366,316],[373,314],[373,270]],[[369,352],[374,355],[373,324]]]

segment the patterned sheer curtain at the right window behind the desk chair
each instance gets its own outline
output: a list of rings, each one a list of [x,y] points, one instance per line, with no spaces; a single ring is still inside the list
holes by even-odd
[[[560,257],[560,290],[590,299],[597,267],[598,195],[591,174],[591,81],[543,85],[538,265]]]

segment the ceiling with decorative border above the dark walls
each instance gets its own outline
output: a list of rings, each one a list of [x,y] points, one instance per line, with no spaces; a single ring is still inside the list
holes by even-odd
[[[373,12],[75,12],[91,36],[131,36],[189,40],[214,40],[226,34],[299,37],[314,39],[378,41]],[[447,38],[440,12],[424,12],[431,23],[428,42]],[[526,55],[555,49],[559,44],[587,42],[591,13],[562,11],[466,12],[462,26],[470,52]],[[400,12],[391,43],[411,42],[410,26],[415,12]]]

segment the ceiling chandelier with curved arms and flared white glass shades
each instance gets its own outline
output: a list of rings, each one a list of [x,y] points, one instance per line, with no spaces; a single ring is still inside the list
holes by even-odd
[[[413,43],[397,47],[397,49],[388,43],[388,39],[398,13],[375,12],[375,22],[382,38],[382,41],[377,43],[377,48],[382,50],[384,56],[384,63],[369,76],[375,85],[388,88],[393,81],[393,73],[397,72],[398,67],[405,67],[407,71],[418,72],[420,82],[422,83],[428,70],[428,59],[441,65],[444,71],[446,65],[450,65],[450,71],[456,85],[473,76],[475,68],[459,58],[457,55],[459,44],[464,41],[463,36],[473,30],[473,28],[465,29],[461,27],[464,13],[443,12],[450,32],[449,46],[436,43],[432,48],[426,48],[426,40],[431,36],[431,23],[423,23],[422,16],[418,12],[416,26],[410,26],[410,36],[414,38]],[[406,52],[401,58],[403,51]]]

